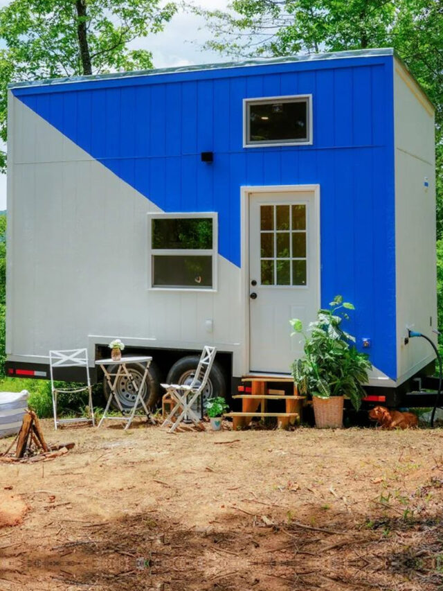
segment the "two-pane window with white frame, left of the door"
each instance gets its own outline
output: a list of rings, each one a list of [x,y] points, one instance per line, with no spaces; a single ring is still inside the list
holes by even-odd
[[[215,289],[217,215],[154,213],[149,218],[151,287]]]

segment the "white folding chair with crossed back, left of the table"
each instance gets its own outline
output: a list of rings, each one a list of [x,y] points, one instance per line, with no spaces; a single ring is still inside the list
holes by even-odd
[[[54,369],[60,367],[84,367],[86,374],[86,386],[79,388],[56,388],[54,384]],[[89,378],[89,364],[87,349],[69,349],[65,351],[49,351],[49,369],[51,371],[51,391],[53,396],[54,426],[57,430],[58,425],[66,423],[92,423],[96,426],[94,419],[94,409],[92,405],[92,387]],[[75,392],[89,392],[89,411],[91,418],[57,418],[57,396],[58,394],[74,394]]]

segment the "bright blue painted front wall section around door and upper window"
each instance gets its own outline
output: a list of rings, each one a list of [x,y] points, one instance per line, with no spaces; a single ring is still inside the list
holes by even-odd
[[[165,211],[217,211],[240,265],[240,186],[320,184],[322,303],[396,376],[392,57],[138,76],[13,92]],[[314,143],[243,148],[243,99],[312,94]],[[204,164],[200,152],[215,153]],[[100,188],[98,188],[99,190]]]

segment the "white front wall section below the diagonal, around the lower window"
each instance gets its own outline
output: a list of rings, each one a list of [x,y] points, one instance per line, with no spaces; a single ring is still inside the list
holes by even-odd
[[[86,346],[89,335],[234,349],[242,339],[240,270],[219,256],[219,292],[147,290],[146,214],[159,208],[12,102],[10,353],[44,358],[49,349]]]

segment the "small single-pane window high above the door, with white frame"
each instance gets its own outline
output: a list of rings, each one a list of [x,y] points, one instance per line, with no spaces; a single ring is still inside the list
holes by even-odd
[[[312,143],[311,96],[244,100],[244,146]]]

